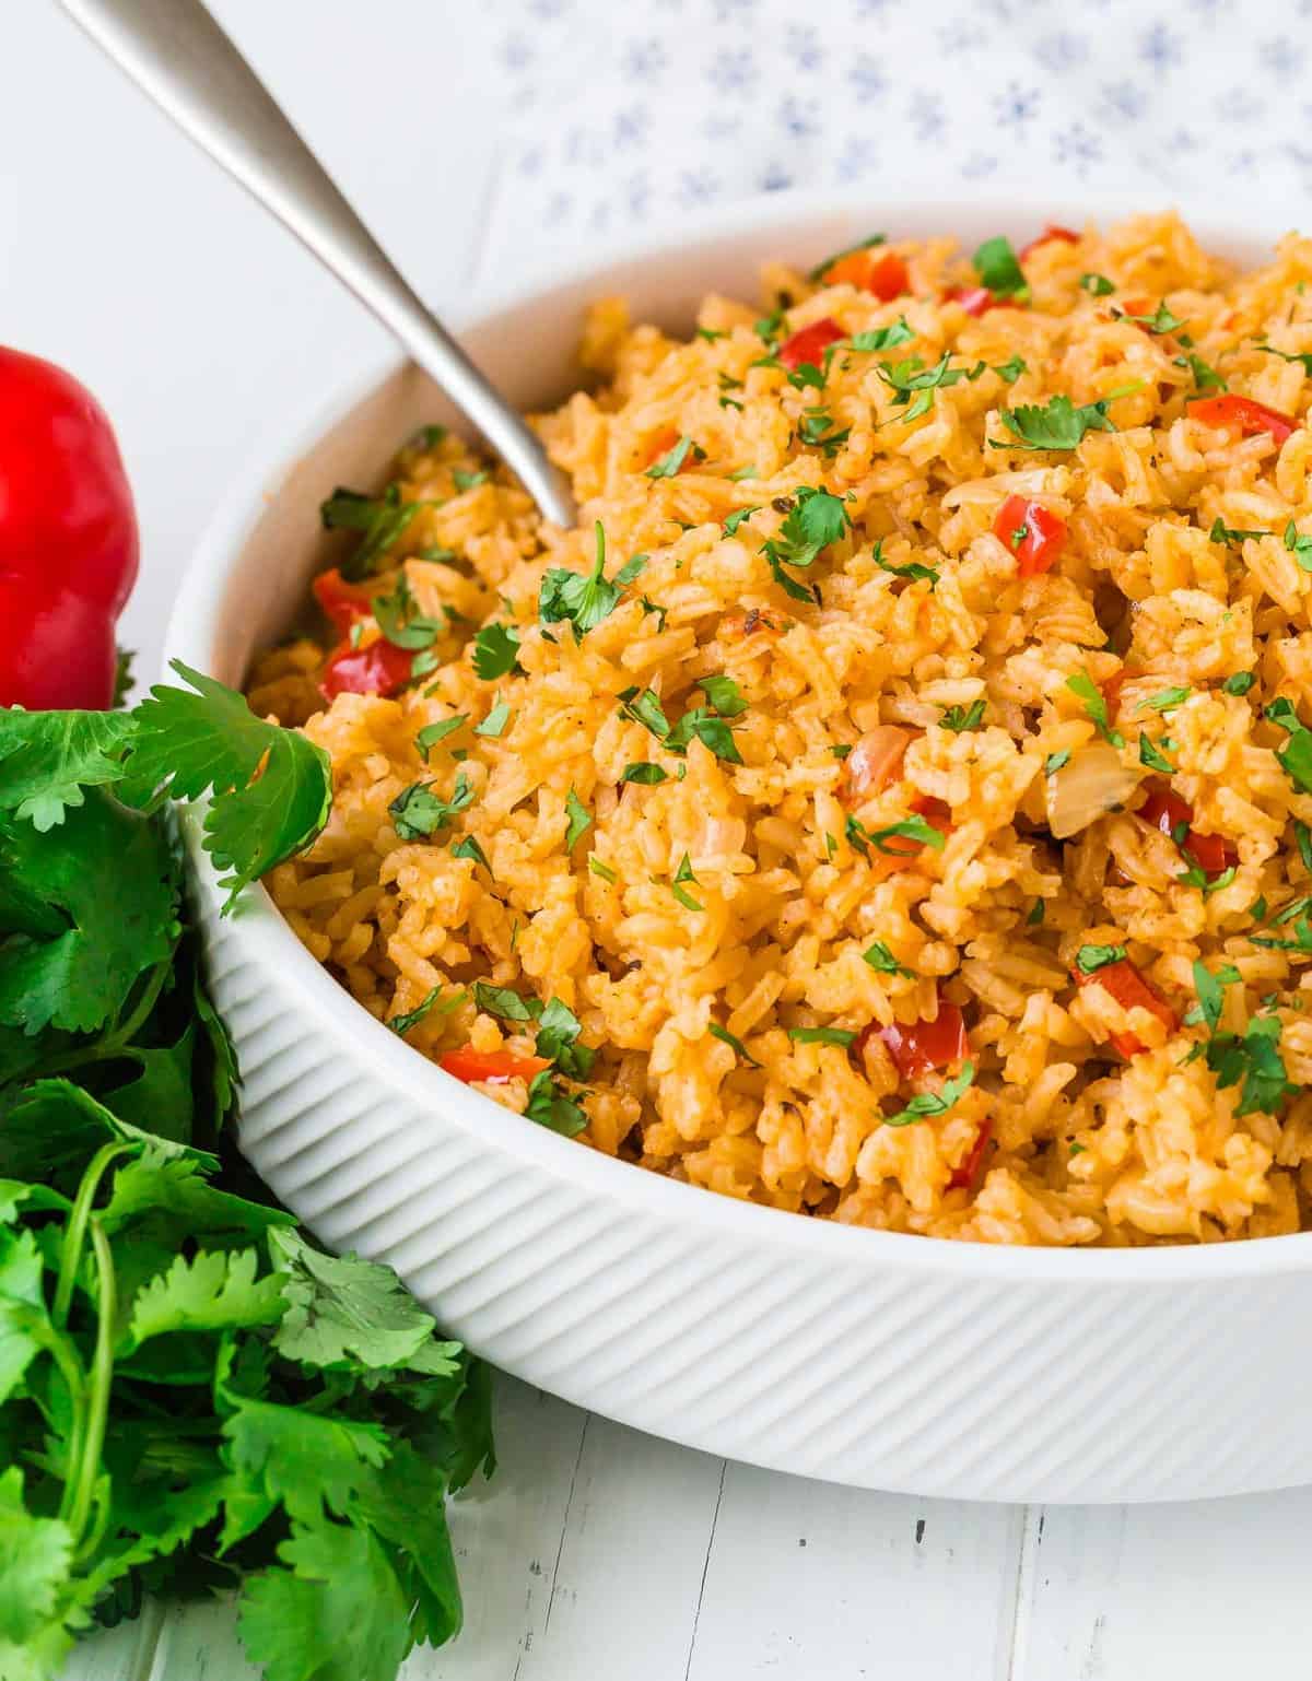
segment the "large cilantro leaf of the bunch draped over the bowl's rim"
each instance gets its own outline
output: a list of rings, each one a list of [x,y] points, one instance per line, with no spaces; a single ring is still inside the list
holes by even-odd
[[[156,684],[136,706],[128,773],[138,788],[173,800],[212,795],[204,846],[229,872],[219,883],[229,911],[242,888],[323,829],[331,763],[299,731],[256,718],[235,689],[180,659],[172,664],[195,694]]]

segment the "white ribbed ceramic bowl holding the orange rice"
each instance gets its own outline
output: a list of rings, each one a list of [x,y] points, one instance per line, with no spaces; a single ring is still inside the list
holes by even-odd
[[[1132,208],[1154,205],[775,197],[503,303],[463,336],[511,398],[545,405],[570,387],[597,294],[686,331],[705,291],[754,298],[762,261],[814,262],[871,227],[952,232],[969,250]],[[1250,261],[1282,232],[1214,203],[1189,219]],[[321,560],[320,499],[377,484],[427,420],[456,415],[394,366],[264,452],[200,546],[168,652],[241,682]],[[469,1091],[362,1010],[262,889],[220,920],[205,862],[198,883],[244,1151],[326,1244],[389,1261],[495,1365],[717,1454],[917,1494],[1137,1501],[1312,1481],[1312,1234],[994,1249],[717,1197]]]

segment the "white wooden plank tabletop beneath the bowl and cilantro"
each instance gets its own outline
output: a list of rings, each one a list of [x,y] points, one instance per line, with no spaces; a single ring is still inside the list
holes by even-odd
[[[447,5],[372,0],[370,32],[358,0],[215,10],[415,279],[456,298],[496,156],[476,79],[434,76]],[[461,7],[471,57],[484,10]],[[431,52],[389,50],[402,17]],[[47,0],[8,0],[0,42],[0,336],[64,361],[116,419],[146,553],[124,639],[153,674],[224,482],[299,420],[325,370],[385,343]],[[407,1681],[1304,1681],[1312,1666],[1312,1491],[1048,1511],[854,1493],[511,1380],[498,1439],[498,1479],[452,1510],[466,1631]],[[252,1681],[225,1605],[150,1614],[71,1676]]]

